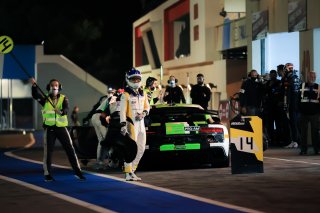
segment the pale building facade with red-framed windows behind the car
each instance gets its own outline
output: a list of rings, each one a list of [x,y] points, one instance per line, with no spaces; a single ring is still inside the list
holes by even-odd
[[[292,62],[302,78],[319,73],[319,9],[317,0],[168,0],[133,23],[133,65],[163,86],[174,75],[188,102],[202,73],[209,108],[221,109],[251,69]]]

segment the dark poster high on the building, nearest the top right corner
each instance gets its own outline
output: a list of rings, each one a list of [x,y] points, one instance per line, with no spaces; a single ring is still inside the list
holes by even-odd
[[[288,31],[307,29],[307,1],[288,0]]]

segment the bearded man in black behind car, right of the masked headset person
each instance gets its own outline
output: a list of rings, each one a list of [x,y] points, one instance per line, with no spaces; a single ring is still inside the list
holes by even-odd
[[[211,98],[211,90],[204,84],[204,76],[199,73],[197,75],[197,84],[191,89],[190,97],[193,104],[199,104],[203,109],[207,110],[208,102]]]

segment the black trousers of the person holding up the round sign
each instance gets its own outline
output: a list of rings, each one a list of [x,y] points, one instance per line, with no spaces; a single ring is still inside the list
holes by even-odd
[[[50,126],[45,128],[45,134],[44,134],[44,144],[43,144],[44,175],[52,174],[52,168],[51,168],[52,153],[54,150],[56,139],[60,141],[62,147],[64,148],[74,172],[76,174],[79,174],[81,172],[81,168],[80,168],[78,158],[75,153],[74,147],[72,145],[72,140],[67,128]]]

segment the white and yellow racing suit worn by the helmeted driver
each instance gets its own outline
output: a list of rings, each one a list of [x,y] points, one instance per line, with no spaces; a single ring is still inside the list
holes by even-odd
[[[137,114],[147,115],[150,110],[148,98],[143,90],[134,91],[127,87],[120,100],[120,122],[126,122],[130,137],[137,143],[137,155],[131,163],[124,163],[124,172],[133,173],[143,156],[146,146],[144,119],[136,119]]]

